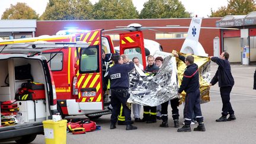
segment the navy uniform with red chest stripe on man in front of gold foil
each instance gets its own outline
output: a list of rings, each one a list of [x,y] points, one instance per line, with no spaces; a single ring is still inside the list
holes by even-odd
[[[178,57],[180,60],[185,62],[185,57]],[[192,113],[196,115],[196,120],[199,123],[203,122],[203,116],[201,114],[200,107],[200,90],[199,90],[199,72],[198,66],[196,63],[188,65],[185,69],[183,75],[183,81],[181,82],[181,86],[178,89],[178,92],[181,93],[185,91],[185,107],[184,107],[184,119],[185,124],[190,125],[192,119]]]

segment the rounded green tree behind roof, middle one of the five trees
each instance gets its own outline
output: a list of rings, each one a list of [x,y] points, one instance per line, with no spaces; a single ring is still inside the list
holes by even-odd
[[[132,0],[100,0],[94,5],[94,18],[97,20],[132,19],[137,15]]]

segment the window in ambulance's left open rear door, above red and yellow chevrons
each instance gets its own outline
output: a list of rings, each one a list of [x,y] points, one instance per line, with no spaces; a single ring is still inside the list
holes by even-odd
[[[81,57],[80,57],[80,68],[79,71],[81,73],[89,73],[89,72],[98,72],[98,49],[97,47],[89,47],[86,49],[81,49]]]

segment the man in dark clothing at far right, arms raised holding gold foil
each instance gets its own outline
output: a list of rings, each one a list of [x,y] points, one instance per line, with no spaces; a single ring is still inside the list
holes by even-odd
[[[212,81],[210,82],[211,85],[215,85],[217,82],[219,82],[220,87],[220,96],[222,98],[222,117],[216,120],[216,122],[220,121],[231,121],[236,120],[233,108],[230,103],[230,93],[232,90],[232,87],[234,85],[233,76],[231,74],[231,66],[229,64],[229,53],[223,52],[219,57],[210,57],[211,60],[219,67],[217,68],[217,71],[215,73],[215,76],[213,76]],[[226,116],[229,118],[227,119]]]

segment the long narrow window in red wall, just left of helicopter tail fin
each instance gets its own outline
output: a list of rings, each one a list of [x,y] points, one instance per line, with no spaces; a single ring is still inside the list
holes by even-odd
[[[185,39],[187,37],[187,33],[156,33],[155,39]]]

